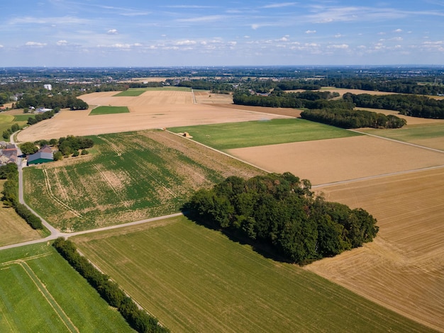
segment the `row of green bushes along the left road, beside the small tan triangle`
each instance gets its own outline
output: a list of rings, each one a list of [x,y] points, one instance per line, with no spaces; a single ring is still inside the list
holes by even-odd
[[[18,169],[17,164],[9,163],[4,166],[0,166],[0,179],[6,179],[3,187],[3,201],[4,205],[13,207],[17,214],[25,220],[33,229],[43,229],[43,224],[40,218],[18,202]]]

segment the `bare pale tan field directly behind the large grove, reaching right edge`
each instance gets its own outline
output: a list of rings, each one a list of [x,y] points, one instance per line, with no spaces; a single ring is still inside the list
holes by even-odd
[[[231,149],[271,172],[290,171],[313,185],[444,165],[444,153],[363,135]]]

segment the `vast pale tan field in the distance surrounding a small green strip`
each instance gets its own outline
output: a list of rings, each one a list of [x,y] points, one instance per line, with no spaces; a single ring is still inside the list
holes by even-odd
[[[128,106],[130,113],[94,115],[87,111],[61,111],[54,118],[37,123],[18,134],[21,142],[65,137],[67,135],[96,135],[152,128],[169,128],[212,123],[284,118],[265,115],[259,111],[219,108],[194,104],[190,91],[145,91],[138,97],[114,97],[118,91],[80,96],[91,108],[94,106]]]

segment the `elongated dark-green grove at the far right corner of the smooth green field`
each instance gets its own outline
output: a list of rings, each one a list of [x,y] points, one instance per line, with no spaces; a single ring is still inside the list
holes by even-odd
[[[396,115],[345,109],[306,110],[301,118],[340,128],[401,128],[407,123]]]

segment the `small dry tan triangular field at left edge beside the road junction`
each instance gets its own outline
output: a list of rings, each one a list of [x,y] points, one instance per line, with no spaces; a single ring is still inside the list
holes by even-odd
[[[0,192],[3,191],[4,182],[5,180],[0,180]],[[39,239],[42,236],[18,216],[13,208],[0,203],[0,247]]]

